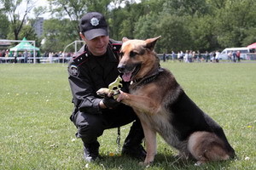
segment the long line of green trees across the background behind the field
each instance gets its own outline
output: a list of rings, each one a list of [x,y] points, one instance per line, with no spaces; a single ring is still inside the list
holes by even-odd
[[[255,0],[48,0],[49,8],[33,8],[32,0],[23,0],[27,4],[23,16],[17,13],[20,2],[0,0],[0,38],[35,39],[48,52],[62,51],[79,40],[79,19],[90,11],[106,16],[115,40],[161,36],[158,53],[213,51],[256,42]],[[24,19],[32,12],[35,18],[28,18],[27,25]],[[38,38],[32,24],[45,12],[51,17],[44,20],[44,36]]]

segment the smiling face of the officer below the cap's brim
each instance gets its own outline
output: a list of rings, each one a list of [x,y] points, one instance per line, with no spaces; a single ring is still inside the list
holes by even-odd
[[[92,53],[95,56],[103,55],[107,52],[109,41],[108,36],[95,37],[92,40],[87,40],[84,37],[84,41],[86,42],[87,47],[90,50],[90,53]]]

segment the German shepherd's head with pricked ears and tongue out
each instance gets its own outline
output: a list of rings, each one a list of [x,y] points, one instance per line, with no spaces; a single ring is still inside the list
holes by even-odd
[[[155,42],[160,37],[147,40],[129,40],[123,38],[119,54],[118,70],[123,73],[125,82],[143,78],[159,66],[159,59],[154,53]]]

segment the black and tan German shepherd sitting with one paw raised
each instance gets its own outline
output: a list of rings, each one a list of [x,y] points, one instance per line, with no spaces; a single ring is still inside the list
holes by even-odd
[[[160,68],[154,53],[159,38],[123,38],[119,54],[118,70],[131,85],[130,94],[120,91],[117,100],[130,105],[142,123],[147,150],[143,163],[154,161],[156,133],[180,156],[195,159],[195,165],[235,157],[222,127],[189,99],[170,71]]]

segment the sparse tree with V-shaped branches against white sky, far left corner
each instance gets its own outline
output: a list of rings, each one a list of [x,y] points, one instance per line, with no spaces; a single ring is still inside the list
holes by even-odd
[[[0,0],[3,4],[3,11],[8,14],[10,19],[10,31],[13,32],[15,40],[19,40],[21,37],[20,31],[25,23],[26,16],[29,14],[34,7],[32,0],[26,0],[26,7],[24,14],[18,10],[18,7],[23,0]]]

